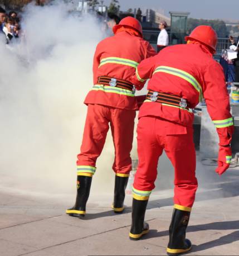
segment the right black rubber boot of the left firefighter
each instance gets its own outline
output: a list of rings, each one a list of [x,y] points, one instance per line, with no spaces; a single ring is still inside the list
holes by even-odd
[[[116,214],[121,214],[124,211],[125,189],[128,179],[129,177],[115,176],[114,203],[112,208]]]

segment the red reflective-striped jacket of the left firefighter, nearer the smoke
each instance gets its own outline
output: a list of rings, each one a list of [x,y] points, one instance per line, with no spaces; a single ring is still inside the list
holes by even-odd
[[[94,56],[94,87],[85,104],[99,104],[120,109],[137,110],[134,93],[121,88],[97,84],[98,77],[129,80],[140,61],[157,54],[149,42],[130,32],[118,32],[101,41]]]

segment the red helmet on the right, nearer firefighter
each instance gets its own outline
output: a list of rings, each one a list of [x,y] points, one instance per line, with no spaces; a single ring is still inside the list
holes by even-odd
[[[189,36],[185,37],[185,40],[197,40],[202,42],[202,44],[207,45],[213,53],[216,53],[217,33],[211,26],[201,25],[196,27]]]

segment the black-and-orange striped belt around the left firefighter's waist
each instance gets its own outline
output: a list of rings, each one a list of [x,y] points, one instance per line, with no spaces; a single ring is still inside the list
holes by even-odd
[[[130,83],[129,81],[122,80],[122,79],[116,79],[113,77],[98,77],[98,83],[103,84],[104,86],[113,86],[118,87],[121,89],[126,89],[131,92],[134,91],[133,83]]]

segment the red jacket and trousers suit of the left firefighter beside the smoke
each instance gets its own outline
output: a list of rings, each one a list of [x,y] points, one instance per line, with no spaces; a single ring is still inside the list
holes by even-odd
[[[136,35],[138,32],[121,27],[114,36],[97,45],[94,87],[85,99],[88,112],[81,153],[77,156],[80,175],[92,176],[95,173],[96,159],[103,149],[110,123],[115,146],[113,169],[118,176],[129,176],[135,110],[138,109],[134,93],[128,89],[104,86],[97,81],[101,76],[129,80],[140,61],[156,54],[149,42]]]

